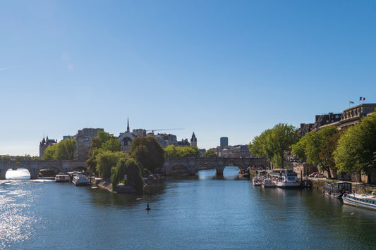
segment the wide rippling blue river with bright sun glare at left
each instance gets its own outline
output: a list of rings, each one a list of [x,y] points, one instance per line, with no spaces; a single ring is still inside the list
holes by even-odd
[[[14,172],[7,177],[28,178]],[[201,170],[144,195],[3,180],[0,249],[376,249],[376,211],[315,189],[253,187],[237,175]]]

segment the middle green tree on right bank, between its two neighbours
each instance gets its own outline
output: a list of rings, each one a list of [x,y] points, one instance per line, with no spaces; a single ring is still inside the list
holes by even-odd
[[[299,142],[293,144],[291,147],[292,153],[301,160],[318,165],[321,170],[327,171],[328,176],[331,177],[330,169],[334,170],[335,168],[332,152],[335,149],[336,140],[339,138],[337,134],[339,134],[339,130],[335,126],[310,131],[304,137],[301,137]],[[329,142],[332,144],[329,144]]]

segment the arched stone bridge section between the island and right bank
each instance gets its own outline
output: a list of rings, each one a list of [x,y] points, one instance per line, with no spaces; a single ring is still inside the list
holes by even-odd
[[[262,166],[270,168],[266,158],[166,158],[163,165],[165,175],[185,171],[195,175],[200,168],[214,168],[216,175],[223,175],[226,166],[234,165],[239,169]]]

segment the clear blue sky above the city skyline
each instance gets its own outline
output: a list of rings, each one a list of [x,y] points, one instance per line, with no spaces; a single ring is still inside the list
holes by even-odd
[[[376,1],[0,1],[0,154],[84,127],[248,144],[376,103]]]

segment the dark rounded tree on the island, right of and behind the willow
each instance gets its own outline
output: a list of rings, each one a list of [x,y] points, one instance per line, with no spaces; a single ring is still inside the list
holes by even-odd
[[[164,150],[154,137],[136,137],[128,153],[149,171],[162,168],[164,164]]]

